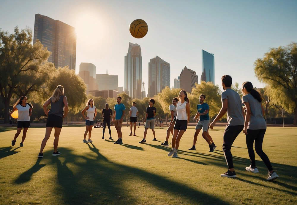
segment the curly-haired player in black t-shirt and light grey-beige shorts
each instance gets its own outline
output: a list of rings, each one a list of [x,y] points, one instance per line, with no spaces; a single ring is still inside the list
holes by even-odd
[[[146,134],[148,132],[148,129],[151,129],[154,135],[153,141],[157,141],[156,136],[155,136],[155,116],[157,109],[153,106],[155,104],[154,99],[149,100],[149,107],[146,108],[146,117],[144,118],[144,122],[146,123],[145,125],[145,130],[143,133],[143,139],[139,143],[145,143],[146,142]]]

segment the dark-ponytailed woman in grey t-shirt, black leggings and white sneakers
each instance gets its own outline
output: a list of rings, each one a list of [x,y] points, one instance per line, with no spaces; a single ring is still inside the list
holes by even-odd
[[[262,150],[263,138],[266,132],[266,122],[263,117],[265,111],[262,105],[262,98],[259,92],[253,89],[251,82],[244,82],[242,84],[242,102],[247,110],[244,121],[244,134],[246,134],[247,150],[249,158],[251,159],[251,165],[245,169],[252,173],[258,173],[259,170],[256,167],[255,152],[253,144],[255,141],[256,153],[260,156],[264,164],[268,168],[267,180],[274,180],[278,178],[276,172],[273,171],[271,163],[267,155]]]

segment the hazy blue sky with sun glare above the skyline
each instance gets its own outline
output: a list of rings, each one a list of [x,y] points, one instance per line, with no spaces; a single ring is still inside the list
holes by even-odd
[[[129,42],[140,44],[142,80],[147,93],[148,63],[158,55],[170,63],[170,86],[184,66],[201,76],[201,49],[214,53],[215,83],[229,74],[233,82],[263,87],[254,62],[271,47],[297,41],[297,1],[4,1],[0,28],[29,26],[39,13],[72,25],[77,32],[76,73],[81,62],[97,74],[119,75],[124,85],[124,56]],[[129,24],[148,23],[148,34],[135,39]],[[221,87],[221,86],[220,86]]]

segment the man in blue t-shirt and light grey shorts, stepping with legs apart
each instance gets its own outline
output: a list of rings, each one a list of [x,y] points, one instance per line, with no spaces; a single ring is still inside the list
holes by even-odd
[[[197,113],[194,117],[194,120],[198,120],[198,116],[200,117],[197,126],[196,126],[196,131],[194,134],[194,140],[193,140],[193,147],[190,148],[189,150],[196,150],[195,145],[197,142],[197,136],[202,129],[202,137],[206,140],[206,142],[209,144],[209,151],[213,152],[214,149],[217,147],[214,144],[214,141],[212,140],[211,136],[208,134],[208,129],[209,129],[209,105],[204,102],[206,96],[205,95],[200,95],[199,96],[199,102],[200,104],[197,105]],[[196,120],[196,122],[197,122]]]

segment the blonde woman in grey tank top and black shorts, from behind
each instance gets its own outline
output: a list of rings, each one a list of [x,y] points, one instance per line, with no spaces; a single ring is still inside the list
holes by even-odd
[[[50,105],[50,110],[48,112],[47,106]],[[41,142],[40,153],[38,158],[43,157],[43,149],[46,145],[50,137],[50,133],[52,132],[53,127],[55,128],[55,139],[54,139],[54,151],[53,156],[58,156],[61,153],[58,152],[58,142],[59,136],[62,129],[63,118],[67,116],[68,113],[68,102],[67,97],[64,96],[64,88],[61,85],[58,85],[53,92],[52,97],[50,97],[44,104],[43,104],[43,111],[46,116],[48,116],[48,120],[46,122],[45,128],[45,137]]]

